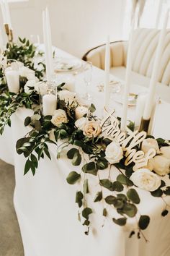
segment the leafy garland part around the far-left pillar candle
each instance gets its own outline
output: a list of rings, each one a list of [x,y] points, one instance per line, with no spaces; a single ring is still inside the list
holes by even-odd
[[[11,126],[11,116],[14,114],[18,108],[26,107],[33,108],[33,106],[39,106],[39,95],[34,90],[32,93],[28,94],[24,92],[24,85],[27,83],[27,77],[19,77],[20,90],[19,93],[11,93],[8,90],[3,62],[7,59],[14,59],[24,64],[24,67],[28,67],[30,70],[35,72],[35,77],[38,80],[42,80],[45,74],[45,64],[41,61],[36,65],[34,63],[34,58],[37,56],[42,56],[42,52],[37,51],[37,48],[30,43],[26,38],[19,38],[18,43],[7,43],[6,49],[1,55],[0,64],[0,134],[4,132],[4,127],[6,124]]]

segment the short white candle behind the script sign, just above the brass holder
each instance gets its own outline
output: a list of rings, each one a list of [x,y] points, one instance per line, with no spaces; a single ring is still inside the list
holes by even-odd
[[[135,127],[140,127],[140,122],[143,116],[143,111],[146,103],[146,94],[142,93],[138,95],[135,108]]]

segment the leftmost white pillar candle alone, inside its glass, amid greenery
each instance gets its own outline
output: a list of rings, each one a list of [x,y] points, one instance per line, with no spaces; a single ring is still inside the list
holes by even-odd
[[[6,69],[5,77],[9,92],[19,93],[19,71]]]

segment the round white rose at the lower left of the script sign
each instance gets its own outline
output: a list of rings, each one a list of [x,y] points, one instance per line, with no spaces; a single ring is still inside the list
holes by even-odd
[[[123,158],[123,150],[119,143],[111,142],[105,151],[106,159],[109,163],[119,163]]]

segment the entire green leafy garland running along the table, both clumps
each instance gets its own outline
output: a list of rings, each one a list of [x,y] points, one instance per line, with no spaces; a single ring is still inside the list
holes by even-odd
[[[45,65],[43,63],[37,64],[35,67],[33,58],[36,56],[36,48],[30,44],[29,40],[19,38],[19,44],[8,43],[6,50],[4,51],[4,58],[16,59],[21,61],[25,67],[35,71],[35,77],[42,80],[45,73]],[[42,56],[42,53],[37,55]],[[30,88],[29,92],[24,91],[24,85],[27,83],[26,77],[20,77],[20,90],[19,93],[10,93],[8,91],[6,80],[4,77],[4,70],[0,67],[0,134],[4,132],[6,124],[11,125],[10,117],[17,111],[18,108],[36,108],[33,116],[28,116],[24,121],[24,126],[32,127],[32,130],[22,139],[17,141],[17,153],[24,154],[27,158],[24,167],[24,174],[28,171],[32,171],[35,175],[38,167],[38,161],[40,158],[44,158],[45,155],[50,158],[50,152],[48,143],[56,145],[58,153],[57,158],[61,156],[61,150],[68,148],[71,145],[71,149],[67,152],[67,158],[70,159],[73,166],[80,166],[81,171],[71,171],[67,176],[68,184],[75,184],[81,182],[82,187],[76,192],[76,203],[79,207],[79,220],[84,218],[83,225],[86,226],[85,234],[89,234],[90,216],[93,213],[93,209],[89,207],[87,195],[90,192],[89,179],[93,175],[98,180],[99,191],[96,195],[93,195],[94,203],[102,202],[104,205],[102,210],[102,216],[107,218],[109,216],[107,206],[115,208],[120,218],[112,217],[112,221],[117,225],[124,226],[127,223],[128,218],[138,217],[138,223],[135,230],[130,232],[130,237],[137,234],[146,239],[143,234],[143,230],[148,227],[150,217],[146,215],[140,215],[138,211],[138,204],[140,203],[140,197],[134,187],[134,184],[130,177],[133,174],[133,163],[129,166],[125,166],[125,155],[117,163],[109,163],[106,158],[107,146],[112,142],[108,138],[105,138],[97,127],[96,135],[87,136],[84,131],[76,126],[76,108],[79,106],[77,101],[68,102],[60,97],[58,98],[58,109],[66,113],[66,121],[56,125],[53,121],[53,116],[42,116],[40,111],[39,95],[34,87]],[[58,86],[58,91],[63,90],[63,84]],[[89,107],[89,111],[84,115],[89,122],[99,122],[97,116],[94,116],[95,107],[93,104]],[[93,127],[94,128],[94,127]],[[130,123],[130,129],[133,129],[132,123]],[[51,140],[50,135],[53,133],[54,139]],[[153,138],[153,137],[152,137]],[[64,140],[63,144],[58,146],[58,141]],[[169,142],[163,139],[158,139],[158,147],[167,147]],[[137,150],[140,150],[137,147]],[[89,158],[87,161],[86,158]],[[112,166],[115,166],[120,174],[116,179],[111,178]],[[100,178],[100,171],[104,171],[109,168],[109,176],[107,179]],[[110,193],[107,197],[104,197],[104,191]],[[125,192],[126,190],[126,192]],[[164,197],[170,195],[170,187],[166,186],[165,182],[161,180],[160,186],[151,192],[153,197]],[[164,200],[165,202],[165,200]],[[161,213],[162,216],[168,214],[167,207],[169,205],[165,202],[165,208]]]

